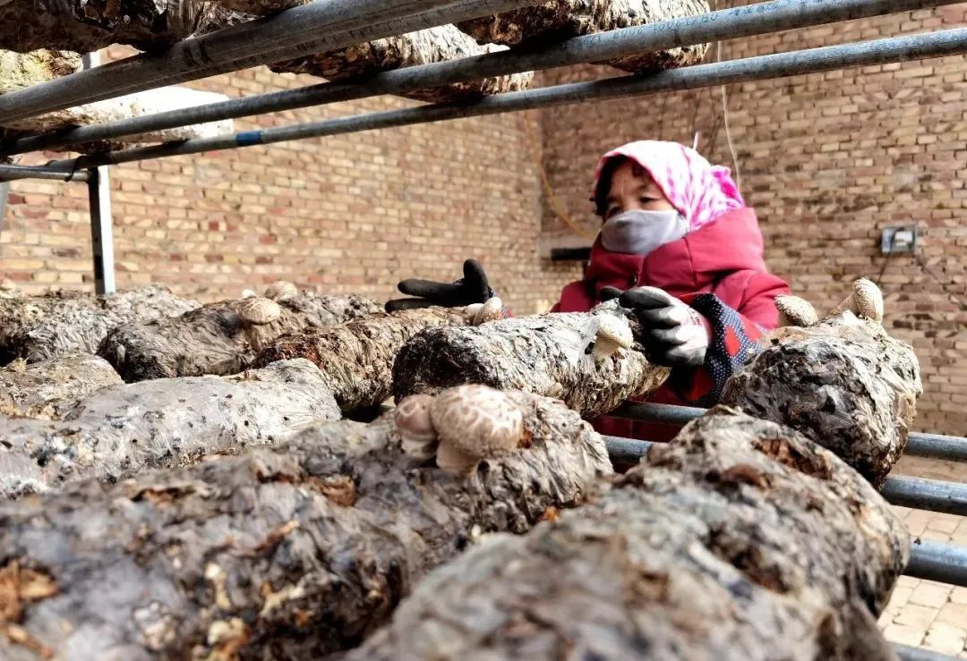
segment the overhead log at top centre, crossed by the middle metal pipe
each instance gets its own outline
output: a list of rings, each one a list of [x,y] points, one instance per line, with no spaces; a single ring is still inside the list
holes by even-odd
[[[355,43],[317,55],[308,55],[272,65],[274,72],[309,73],[327,80],[365,80],[379,72],[446,62],[463,57],[506,50],[501,46],[479,45],[454,25],[438,25],[372,42]],[[470,101],[481,97],[526,90],[533,72],[512,73],[481,80],[451,83],[428,90],[404,92],[400,96],[417,101]]]

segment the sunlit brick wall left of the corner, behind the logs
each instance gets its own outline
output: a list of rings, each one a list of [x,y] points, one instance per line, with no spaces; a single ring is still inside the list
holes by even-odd
[[[237,97],[317,82],[260,68],[194,85]],[[235,126],[409,104],[339,103]],[[118,286],[160,282],[215,300],[285,278],[386,300],[401,277],[454,279],[465,258],[477,257],[515,310],[546,309],[560,277],[537,253],[541,194],[527,138],[540,158],[538,119],[460,120],[113,167]],[[88,223],[84,185],[15,182],[0,275],[31,292],[92,286]]]

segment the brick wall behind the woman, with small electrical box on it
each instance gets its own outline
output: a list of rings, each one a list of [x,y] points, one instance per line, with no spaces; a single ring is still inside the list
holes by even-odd
[[[961,26],[964,7],[723,43],[722,58]],[[880,228],[916,223],[927,268],[967,302],[965,73],[967,62],[952,57],[729,87],[742,189],[758,211],[767,262],[797,294],[820,309],[835,305],[854,278],[875,279],[883,268]],[[547,82],[604,75],[614,72],[583,67],[552,72]],[[698,130],[700,151],[731,163],[720,88],[549,109],[543,129],[551,186],[586,227],[598,222],[589,174],[611,147],[656,137],[690,145]],[[569,233],[549,210],[544,229]],[[964,435],[967,310],[909,255],[894,255],[882,286],[887,328],[921,360],[916,426]]]

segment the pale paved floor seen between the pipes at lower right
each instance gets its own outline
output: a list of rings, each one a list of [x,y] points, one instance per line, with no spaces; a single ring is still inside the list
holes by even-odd
[[[904,458],[897,473],[967,482],[967,464]],[[967,517],[896,507],[910,533],[967,546]],[[967,659],[967,588],[901,576],[880,617],[887,640]]]

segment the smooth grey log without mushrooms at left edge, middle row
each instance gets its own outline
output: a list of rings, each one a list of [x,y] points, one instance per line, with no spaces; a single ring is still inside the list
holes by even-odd
[[[319,368],[287,360],[236,377],[157,379],[62,402],[57,419],[0,417],[0,498],[290,438],[339,410]]]

